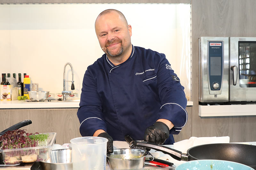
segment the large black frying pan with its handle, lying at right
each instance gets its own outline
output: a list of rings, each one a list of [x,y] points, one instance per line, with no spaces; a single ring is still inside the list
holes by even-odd
[[[134,146],[145,147],[161,151],[170,155],[176,160],[198,160],[198,159],[218,159],[238,162],[252,168],[256,168],[256,146],[248,144],[203,144],[188,149],[187,154],[175,149],[149,143],[145,141],[133,141]]]

